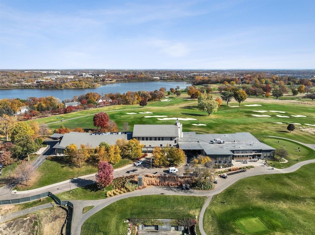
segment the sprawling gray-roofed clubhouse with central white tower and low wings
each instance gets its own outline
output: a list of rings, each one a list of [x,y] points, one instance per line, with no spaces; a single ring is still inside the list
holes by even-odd
[[[53,134],[52,138],[60,141],[53,147],[56,155],[74,143],[92,148],[101,142],[115,144],[118,139],[137,139],[144,145],[143,152],[152,152],[155,147],[177,147],[187,154],[198,154],[210,157],[215,164],[231,165],[232,159],[268,159],[274,157],[275,149],[260,142],[249,132],[225,134],[196,134],[183,132],[182,124],[177,120],[175,125],[134,125],[133,132],[115,133],[82,133],[70,132]]]

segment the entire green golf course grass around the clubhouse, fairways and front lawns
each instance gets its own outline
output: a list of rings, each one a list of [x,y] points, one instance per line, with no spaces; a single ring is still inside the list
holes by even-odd
[[[166,98],[165,98],[166,100]],[[233,100],[234,101],[234,100]],[[216,113],[208,115],[198,110],[197,100],[183,95],[168,97],[167,101],[149,102],[148,105],[113,105],[82,110],[38,119],[52,131],[63,125],[73,130],[77,127],[95,129],[93,116],[106,112],[116,122],[119,130],[127,122],[132,131],[134,124],[174,124],[179,119],[183,131],[196,133],[251,132],[260,141],[278,149],[288,151],[286,162],[274,161],[275,168],[282,169],[300,161],[314,159],[315,151],[305,144],[315,144],[315,103],[310,100],[266,100],[248,98],[239,106],[236,102],[222,104]],[[294,131],[287,131],[288,124],[294,124]],[[276,137],[270,137],[276,136]],[[287,138],[281,139],[277,137]],[[47,169],[49,160],[41,168]],[[63,180],[73,175],[63,174],[69,166],[59,166]],[[58,166],[54,167],[58,167]],[[50,166],[48,166],[49,168]],[[95,169],[94,169],[95,170]],[[254,169],[253,169],[254,170]],[[90,173],[93,169],[82,167],[76,175]],[[208,235],[312,235],[315,231],[315,164],[306,165],[296,172],[277,175],[262,175],[246,178],[234,183],[215,195],[204,215],[204,230]],[[43,172],[46,172],[45,170]],[[47,173],[45,181],[54,178]],[[53,174],[53,173],[51,173]],[[233,176],[231,176],[233,177]],[[51,182],[50,182],[51,183]],[[40,185],[42,186],[41,183]],[[33,185],[36,187],[38,185]],[[89,188],[81,188],[80,194],[89,200],[99,195]],[[60,194],[65,199],[67,192]],[[75,194],[74,194],[75,195]],[[91,195],[91,196],[88,196]],[[75,198],[74,198],[75,199]],[[80,199],[79,199],[80,200]],[[82,234],[122,234],[127,230],[124,221],[137,218],[187,218],[198,216],[205,201],[204,197],[172,197],[154,195],[123,199],[100,210],[90,217],[82,227]],[[226,201],[226,203],[222,203]],[[156,205],[155,205],[156,204]],[[176,213],[174,213],[176,210]],[[150,215],[150,216],[149,216]],[[116,231],[116,232],[114,232]],[[198,228],[197,228],[198,231]]]

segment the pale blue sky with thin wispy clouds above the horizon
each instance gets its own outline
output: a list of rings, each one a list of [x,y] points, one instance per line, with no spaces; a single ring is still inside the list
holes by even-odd
[[[315,69],[315,0],[0,0],[0,69]]]

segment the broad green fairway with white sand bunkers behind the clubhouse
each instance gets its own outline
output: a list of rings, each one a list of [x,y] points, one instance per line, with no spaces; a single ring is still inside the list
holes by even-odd
[[[218,112],[208,116],[206,112],[198,110],[197,100],[188,100],[187,97],[169,99],[170,102],[149,102],[145,107],[139,105],[113,105],[63,114],[60,115],[64,118],[63,122],[56,122],[56,116],[38,119],[38,122],[47,124],[51,130],[58,129],[61,125],[71,130],[76,127],[94,129],[93,115],[104,111],[111,120],[116,122],[120,131],[124,122],[128,122],[130,131],[132,131],[135,124],[173,124],[174,120],[158,120],[157,117],[145,118],[145,116],[165,115],[168,118],[195,119],[181,121],[183,131],[195,131],[197,133],[251,132],[256,137],[275,135],[304,143],[314,142],[314,134],[310,131],[314,127],[310,125],[315,125],[315,104],[251,99],[243,102],[241,106],[238,106],[238,103],[235,102],[229,103],[230,106],[223,103]],[[268,115],[270,117],[253,115]],[[206,126],[192,125],[199,122],[206,124]],[[286,130],[288,123],[295,124],[294,131],[288,132]]]

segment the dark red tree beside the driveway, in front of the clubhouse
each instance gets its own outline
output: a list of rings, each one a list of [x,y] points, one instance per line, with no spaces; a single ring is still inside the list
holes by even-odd
[[[98,164],[98,171],[95,174],[98,188],[107,187],[114,180],[114,168],[107,161],[100,161]]]

